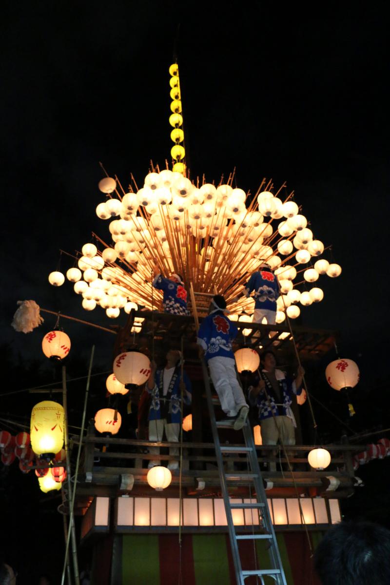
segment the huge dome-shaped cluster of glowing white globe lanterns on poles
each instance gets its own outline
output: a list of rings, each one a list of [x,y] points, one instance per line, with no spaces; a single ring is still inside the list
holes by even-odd
[[[112,244],[102,240],[99,251],[86,243],[78,267],[66,273],[86,311],[99,305],[108,317],[116,318],[121,309],[129,313],[137,304],[150,309],[156,258],[164,274],[182,274],[186,285],[194,283],[195,291],[212,292],[216,287],[224,294],[229,289],[228,308],[241,321],[248,316],[251,321],[253,315],[253,298],[240,293],[260,261],[270,264],[278,277],[282,294],[277,323],[285,314],[298,317],[299,305],[322,301],[320,275],[334,278],[341,273],[339,264],[320,257],[324,245],[314,238],[296,202],[289,198],[283,202],[270,191],[252,198],[229,184],[198,188],[170,170],[147,174],[137,192],[120,195],[111,177],[103,178],[99,189],[107,198],[98,204],[96,214],[109,221]],[[59,271],[49,275],[54,286],[64,280]],[[298,285],[304,288],[299,290]],[[239,301],[234,302],[237,295]],[[161,292],[155,290],[154,308],[161,309],[161,302]],[[138,321],[133,331],[139,328]]]

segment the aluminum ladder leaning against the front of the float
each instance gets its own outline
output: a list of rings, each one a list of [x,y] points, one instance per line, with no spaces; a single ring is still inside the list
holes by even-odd
[[[245,446],[243,447],[229,447],[228,445],[220,445],[218,429],[219,428],[233,428],[232,421],[221,421],[217,422],[215,419],[214,402],[211,394],[208,370],[205,364],[205,360],[202,358],[202,370],[203,380],[205,382],[206,397],[210,413],[210,422],[213,433],[213,441],[215,443],[216,459],[218,462],[219,479],[222,487],[223,502],[225,504],[227,528],[229,530],[230,546],[232,549],[232,556],[234,562],[234,572],[236,574],[237,585],[245,585],[246,577],[257,576],[258,580],[262,585],[267,585],[270,581],[264,581],[265,576],[269,576],[274,579],[277,585],[287,585],[286,577],[284,574],[281,558],[279,555],[278,543],[275,537],[274,526],[271,522],[270,511],[267,504],[267,496],[265,495],[265,489],[263,479],[260,473],[260,467],[258,466],[256,448],[253,440],[253,433],[249,421],[243,426],[243,435]],[[218,401],[219,404],[219,401]],[[237,433],[239,431],[236,431]],[[249,471],[246,473],[226,473],[223,466],[223,453],[237,454],[244,453],[247,455],[247,461],[249,463]],[[229,492],[227,488],[228,481],[234,480],[249,480],[253,482],[254,490],[256,491],[256,502],[253,503],[242,503],[236,504],[230,502]],[[252,498],[251,498],[252,499]],[[254,498],[253,498],[254,499]],[[236,534],[236,528],[233,524],[232,510],[240,508],[241,510],[249,509],[260,512],[260,526],[261,533],[254,534]],[[267,539],[270,541],[268,553],[270,556],[270,569],[257,569],[257,570],[244,570],[241,567],[241,559],[238,547],[239,540],[251,539]]]

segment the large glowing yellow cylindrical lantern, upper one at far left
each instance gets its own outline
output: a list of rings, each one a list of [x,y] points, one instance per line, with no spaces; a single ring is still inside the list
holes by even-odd
[[[30,439],[36,455],[52,459],[64,445],[64,409],[51,400],[38,402],[32,409]]]

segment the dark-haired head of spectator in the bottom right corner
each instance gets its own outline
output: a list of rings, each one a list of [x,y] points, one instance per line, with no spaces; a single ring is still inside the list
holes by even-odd
[[[317,546],[314,564],[322,585],[388,585],[390,531],[372,522],[340,522]]]

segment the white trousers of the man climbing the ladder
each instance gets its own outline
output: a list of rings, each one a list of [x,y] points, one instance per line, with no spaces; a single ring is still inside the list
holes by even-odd
[[[209,359],[210,376],[223,412],[235,417],[242,406],[247,406],[243,390],[237,380],[236,360],[232,357]]]

